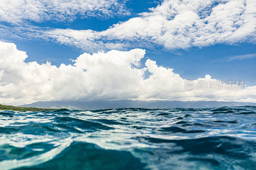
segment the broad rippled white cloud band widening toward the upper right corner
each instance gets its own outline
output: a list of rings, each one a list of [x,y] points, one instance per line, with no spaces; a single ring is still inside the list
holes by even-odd
[[[187,49],[214,44],[255,43],[255,0],[164,0],[150,12],[104,31],[52,29],[47,39],[89,50],[134,47]]]

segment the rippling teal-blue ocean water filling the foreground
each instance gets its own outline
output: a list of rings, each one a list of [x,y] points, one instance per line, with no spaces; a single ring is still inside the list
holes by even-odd
[[[0,169],[256,169],[256,107],[0,111]]]

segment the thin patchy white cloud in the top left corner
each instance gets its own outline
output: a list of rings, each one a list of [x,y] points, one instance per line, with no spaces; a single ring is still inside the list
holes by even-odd
[[[130,15],[120,0],[0,0],[0,21],[21,24],[26,21],[68,21],[76,18],[111,18]]]

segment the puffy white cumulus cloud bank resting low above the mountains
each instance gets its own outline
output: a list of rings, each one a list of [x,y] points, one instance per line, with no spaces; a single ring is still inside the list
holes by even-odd
[[[13,43],[0,41],[0,103],[13,105],[51,100],[219,100],[255,101],[256,86],[236,90],[209,88],[185,89],[186,79],[173,69],[158,66],[148,59],[145,67],[140,60],[143,49],[130,51],[111,50],[92,55],[84,53],[73,60],[73,65],[60,67],[37,62],[24,62],[28,57]],[[150,76],[145,78],[145,72]],[[205,78],[193,80],[222,84],[227,83]]]

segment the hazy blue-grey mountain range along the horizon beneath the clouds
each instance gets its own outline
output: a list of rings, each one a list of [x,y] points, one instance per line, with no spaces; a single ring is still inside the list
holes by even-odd
[[[234,101],[163,101],[163,100],[109,100],[109,101],[38,101],[19,107],[67,108],[97,110],[108,108],[201,108],[223,106],[256,106],[256,103]]]

